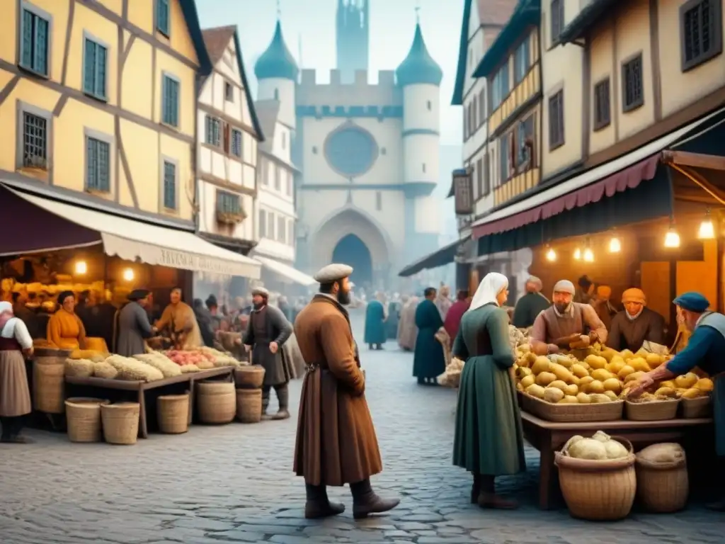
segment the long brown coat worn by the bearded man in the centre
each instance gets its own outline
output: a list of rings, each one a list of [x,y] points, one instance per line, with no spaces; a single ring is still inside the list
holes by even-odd
[[[383,470],[347,310],[315,295],[294,321],[308,365],[302,382],[294,471],[312,485],[360,482]]]

